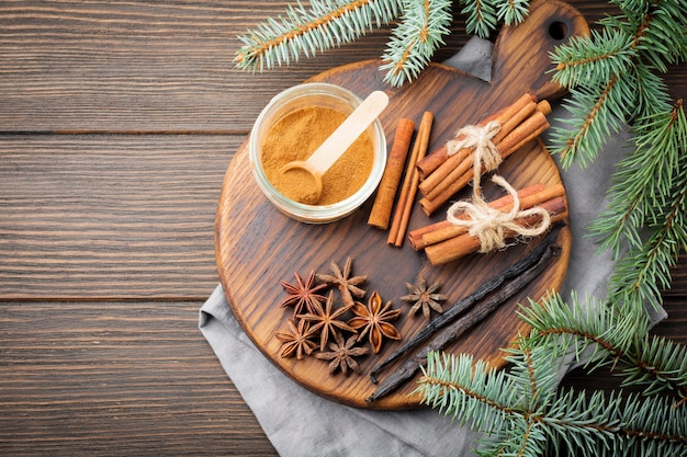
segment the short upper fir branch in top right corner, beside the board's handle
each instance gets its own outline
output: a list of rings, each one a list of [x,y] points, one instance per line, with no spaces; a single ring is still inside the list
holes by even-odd
[[[640,101],[638,95],[652,91],[646,69],[665,71],[665,62],[687,58],[684,32],[687,7],[684,2],[627,0],[620,3],[626,16],[609,18],[602,22],[604,32],[571,39],[552,53],[558,68],[553,79],[572,90],[572,100],[566,105],[572,119],[554,127],[551,137],[552,150],[561,155],[564,168],[574,162],[587,167],[608,137],[617,132],[619,123],[630,123],[635,116],[646,114],[633,108]],[[613,92],[615,96],[609,99]],[[599,117],[605,111],[616,118]],[[604,129],[602,124],[608,122],[611,125]]]

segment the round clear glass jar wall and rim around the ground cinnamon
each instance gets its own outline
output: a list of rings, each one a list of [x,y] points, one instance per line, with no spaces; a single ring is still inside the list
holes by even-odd
[[[248,155],[258,186],[283,214],[303,222],[331,222],[353,213],[374,193],[386,165],[386,138],[379,118],[368,127],[374,153],[370,175],[358,191],[340,202],[306,205],[288,198],[272,185],[262,168],[262,142],[272,126],[284,116],[308,106],[329,107],[349,115],[361,102],[358,95],[338,85],[307,82],[284,90],[264,106],[250,133]]]

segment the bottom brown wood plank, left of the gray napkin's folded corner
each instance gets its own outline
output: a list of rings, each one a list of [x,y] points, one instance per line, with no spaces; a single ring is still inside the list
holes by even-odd
[[[182,302],[3,302],[0,454],[275,455]]]

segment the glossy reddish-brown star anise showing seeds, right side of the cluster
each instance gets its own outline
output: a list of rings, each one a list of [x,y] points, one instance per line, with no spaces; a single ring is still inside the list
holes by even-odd
[[[382,308],[382,297],[376,290],[368,300],[367,307],[356,302],[351,308],[356,317],[350,319],[348,324],[356,330],[363,329],[358,335],[358,341],[362,340],[365,334],[369,334],[370,345],[372,345],[372,351],[375,353],[380,352],[384,336],[392,340],[401,340],[398,330],[386,322],[401,316],[401,309],[390,308],[391,301]]]

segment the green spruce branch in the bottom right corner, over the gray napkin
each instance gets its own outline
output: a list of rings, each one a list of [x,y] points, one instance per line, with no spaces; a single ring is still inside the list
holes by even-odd
[[[542,301],[523,311],[534,327],[508,350],[509,372],[464,354],[430,353],[416,389],[423,401],[485,433],[480,455],[561,455],[564,449],[595,456],[686,455],[686,349],[649,338],[649,325],[633,324],[610,308],[597,312],[574,297],[570,307],[558,296]],[[627,363],[626,385],[644,385],[644,391],[556,389],[559,356],[579,355],[592,345],[600,347],[596,358],[604,364]],[[657,395],[669,389],[677,401]]]

